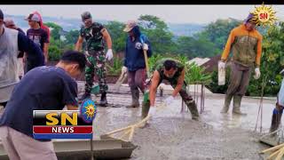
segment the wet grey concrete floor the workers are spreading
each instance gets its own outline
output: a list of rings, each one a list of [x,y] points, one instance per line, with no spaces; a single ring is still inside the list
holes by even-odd
[[[83,84],[78,83],[81,94]],[[112,92],[113,88],[114,85],[110,84],[109,91]],[[164,91],[163,97],[157,93],[157,106],[162,104],[162,100],[170,92]],[[99,95],[93,95],[92,99],[99,101]],[[108,93],[107,100],[109,107],[99,108],[94,122],[96,139],[101,134],[140,120],[141,107],[126,108],[131,102],[130,88],[127,85],[122,86],[119,93]],[[140,103],[141,101],[142,94]],[[223,103],[224,95],[207,93],[205,110],[201,113],[201,120],[196,122],[191,119],[188,110],[180,112],[181,98],[177,97],[172,106],[158,109],[149,124],[134,133],[132,142],[138,148],[133,151],[130,159],[263,159],[258,152],[270,147],[258,141],[259,124],[257,132],[254,132],[259,99],[243,98],[241,109],[248,116],[233,115],[232,104],[228,114],[220,114]],[[274,98],[264,99],[262,133],[269,131],[274,103]],[[200,110],[200,105],[198,107]]]

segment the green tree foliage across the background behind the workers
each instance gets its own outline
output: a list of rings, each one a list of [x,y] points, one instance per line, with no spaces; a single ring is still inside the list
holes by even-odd
[[[213,57],[221,54],[230,31],[240,24],[241,20],[216,20],[193,36],[174,36],[170,32],[167,23],[160,18],[153,15],[141,15],[138,18],[138,25],[142,33],[148,37],[154,52],[149,59],[151,71],[154,70],[154,63],[164,57],[175,58],[185,63],[195,57]],[[66,40],[62,41],[60,40],[62,28],[58,24],[51,22],[46,23],[46,25],[51,28],[50,60],[59,60],[62,52],[75,48],[79,31],[70,30],[65,35]],[[114,54],[124,52],[128,36],[128,33],[123,32],[125,24],[119,21],[109,21],[105,24],[105,27],[112,37]],[[273,27],[259,28],[259,30],[264,36],[260,68],[262,76],[259,80],[255,80],[251,76],[247,95],[260,95],[259,91],[261,91],[263,84],[266,84],[264,95],[276,95],[279,92],[282,79],[279,72],[284,67],[284,23],[280,22]],[[122,60],[117,57],[107,68],[109,73],[118,74],[121,67]],[[203,69],[195,67],[193,65],[192,68],[196,70],[196,73],[203,73]],[[209,89],[212,92],[224,93],[227,89],[229,75],[230,68],[227,68],[226,84],[218,86],[217,71],[214,71],[210,76],[212,81],[208,84]],[[193,78],[188,77],[189,79]],[[209,76],[206,75],[206,77]]]

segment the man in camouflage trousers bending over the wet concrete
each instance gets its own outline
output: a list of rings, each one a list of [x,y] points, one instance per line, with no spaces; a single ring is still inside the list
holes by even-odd
[[[158,60],[156,63],[154,75],[150,81],[150,90],[145,93],[142,118],[145,118],[148,115],[150,108],[151,110],[155,109],[154,100],[156,91],[163,79],[168,80],[170,85],[174,88],[172,95],[165,100],[166,103],[170,104],[179,92],[182,100],[185,101],[187,108],[190,110],[193,120],[198,120],[199,113],[196,104],[192,96],[186,92],[185,66],[180,61],[170,58]]]

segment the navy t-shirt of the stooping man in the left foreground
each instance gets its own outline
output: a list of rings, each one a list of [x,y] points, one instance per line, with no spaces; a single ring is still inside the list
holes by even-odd
[[[63,68],[34,68],[14,87],[0,125],[33,137],[33,110],[62,110],[68,104],[77,106],[76,96],[77,84]]]

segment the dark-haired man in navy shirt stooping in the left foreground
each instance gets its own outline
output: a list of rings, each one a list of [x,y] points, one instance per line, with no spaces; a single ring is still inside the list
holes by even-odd
[[[51,140],[33,138],[33,110],[77,110],[72,77],[85,68],[81,52],[68,51],[55,67],[38,67],[23,76],[0,119],[0,138],[10,159],[56,160]]]

